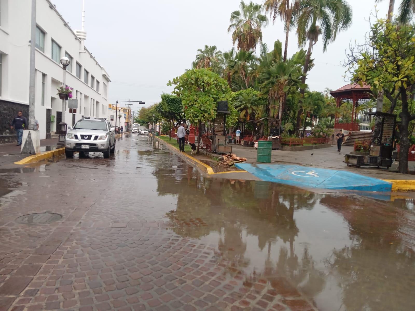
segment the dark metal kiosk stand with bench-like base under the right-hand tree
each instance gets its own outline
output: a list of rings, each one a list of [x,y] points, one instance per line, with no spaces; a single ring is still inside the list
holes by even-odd
[[[362,165],[390,168],[393,163],[392,152],[395,141],[396,114],[384,112],[365,112],[364,114],[374,116],[375,121],[379,120],[380,122],[378,132],[375,129],[370,141],[369,155],[347,154],[344,163],[347,163],[347,166],[358,168]]]

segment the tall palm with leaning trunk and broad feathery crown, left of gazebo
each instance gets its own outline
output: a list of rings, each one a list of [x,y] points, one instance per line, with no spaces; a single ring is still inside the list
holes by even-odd
[[[305,84],[312,46],[322,34],[323,52],[325,52],[330,41],[336,39],[337,33],[349,28],[352,24],[352,9],[345,0],[303,0],[296,22],[298,45],[304,46],[308,40],[307,56],[304,63],[303,78],[301,79],[301,82]],[[320,25],[317,25],[317,23]],[[304,92],[305,89],[301,89],[300,93],[302,95],[304,95]],[[297,129],[300,126],[302,113],[301,110],[298,111]]]

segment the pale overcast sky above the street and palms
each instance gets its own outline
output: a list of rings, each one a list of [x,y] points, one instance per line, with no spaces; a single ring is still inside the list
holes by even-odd
[[[52,0],[72,29],[81,29],[82,0]],[[245,1],[246,3],[248,1]],[[263,1],[254,1],[262,3]],[[362,42],[369,31],[368,17],[375,0],[349,0],[353,24],[337,36],[325,53],[321,41],[313,48],[315,67],[307,83],[311,90],[337,89],[345,84],[345,49],[350,40]],[[396,1],[395,12],[400,1]],[[70,3],[70,5],[68,5]],[[159,102],[162,92],[171,92],[168,80],[191,67],[197,49],[205,44],[227,51],[232,48],[227,33],[231,12],[239,0],[85,0],[85,46],[110,75],[110,103],[116,100],[142,100],[146,107]],[[386,16],[389,1],[377,5]],[[269,47],[279,39],[284,43],[283,23],[263,29]],[[288,57],[297,51],[295,31],[290,33]],[[257,51],[259,52],[259,51]],[[138,105],[137,105],[138,106]],[[139,107],[133,109],[139,109]]]

